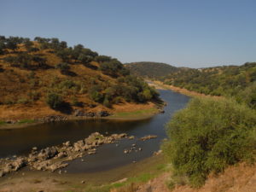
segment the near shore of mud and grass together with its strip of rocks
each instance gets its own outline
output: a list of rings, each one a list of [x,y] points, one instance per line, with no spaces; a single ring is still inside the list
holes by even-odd
[[[138,162],[134,161],[126,166],[120,166],[105,172],[69,173],[60,169],[68,166],[68,160],[75,160],[80,157],[83,157],[81,160],[86,163],[86,156],[94,155],[96,148],[101,144],[119,143],[122,139],[146,141],[154,139],[154,136],[135,138],[122,133],[106,137],[94,133],[85,138],[84,142],[82,140],[73,144],[67,142],[63,143],[62,146],[44,148],[40,151],[37,151],[37,148],[32,148],[32,153],[27,158],[23,156],[16,157],[15,160],[1,160],[0,177],[4,177],[0,178],[0,189],[4,189],[3,191],[31,191],[42,188],[44,191],[66,191],[73,189],[73,185],[75,185],[75,191],[84,191],[84,189],[90,192],[108,191],[114,187],[133,182],[147,182],[166,169],[166,165],[163,164],[165,159],[160,152],[154,153],[151,158]],[[136,141],[134,142],[136,143]],[[137,153],[140,153],[139,151],[142,149],[137,148],[136,144],[132,144],[132,150],[135,152],[138,150]],[[125,151],[124,154],[126,154]],[[29,166],[32,171],[28,171],[26,166]],[[59,171],[55,172],[55,170]],[[99,174],[101,177],[98,177]],[[21,184],[20,178],[22,179]],[[19,183],[19,187],[16,186],[17,183]]]

